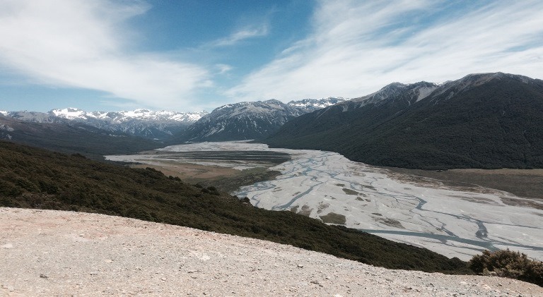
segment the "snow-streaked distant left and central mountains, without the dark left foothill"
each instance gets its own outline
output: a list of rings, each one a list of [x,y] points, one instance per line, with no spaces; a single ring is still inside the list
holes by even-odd
[[[223,105],[216,108],[211,114],[206,111],[177,112],[150,111],[148,109],[89,112],[76,108],[65,108],[52,109],[47,113],[0,111],[0,116],[22,122],[51,124],[52,126],[90,126],[100,129],[103,131],[101,133],[132,135],[148,140],[158,140],[158,142],[165,144],[178,144],[185,141],[264,138],[279,130],[281,125],[296,116],[344,100],[339,97],[329,97],[303,99],[287,104],[274,99],[264,102],[241,102]],[[11,135],[13,133],[7,133],[6,129],[0,137],[9,140],[13,137]]]

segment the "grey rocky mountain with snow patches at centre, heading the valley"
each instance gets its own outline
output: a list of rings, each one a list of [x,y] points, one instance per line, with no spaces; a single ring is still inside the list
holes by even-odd
[[[276,99],[240,102],[216,108],[183,132],[177,141],[224,141],[265,138],[284,123],[310,111],[345,99],[303,99],[288,103]]]

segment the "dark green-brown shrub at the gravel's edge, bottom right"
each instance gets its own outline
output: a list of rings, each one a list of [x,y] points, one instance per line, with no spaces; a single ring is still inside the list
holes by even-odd
[[[469,268],[483,275],[497,275],[528,281],[543,286],[543,262],[528,259],[524,253],[512,250],[485,250],[468,262]]]

